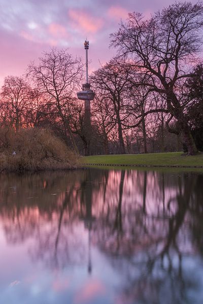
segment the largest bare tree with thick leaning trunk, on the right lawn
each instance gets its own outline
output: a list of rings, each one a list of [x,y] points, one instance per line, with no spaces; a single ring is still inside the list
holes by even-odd
[[[203,5],[175,3],[144,20],[140,13],[129,14],[111,35],[120,56],[145,76],[145,85],[165,95],[166,108],[179,125],[188,155],[197,153],[184,109],[185,82],[191,76],[189,62],[201,46]],[[194,58],[193,58],[194,59]],[[174,131],[174,130],[171,130]]]

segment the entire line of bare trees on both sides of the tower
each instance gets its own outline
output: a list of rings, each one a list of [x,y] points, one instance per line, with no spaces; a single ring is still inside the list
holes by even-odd
[[[116,57],[90,82],[91,154],[203,150],[203,5],[176,3],[149,19],[129,14],[111,34]],[[80,91],[84,64],[53,48],[23,77],[9,76],[1,90],[1,145],[10,128],[49,128],[76,152],[87,141]]]

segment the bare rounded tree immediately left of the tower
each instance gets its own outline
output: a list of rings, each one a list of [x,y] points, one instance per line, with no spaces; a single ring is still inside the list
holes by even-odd
[[[70,136],[74,150],[77,151],[73,132],[70,127],[72,113],[67,111],[75,99],[78,84],[82,79],[83,63],[73,58],[66,50],[53,48],[39,58],[40,63],[28,66],[28,75],[33,79],[41,93],[50,98],[55,105],[66,135]]]

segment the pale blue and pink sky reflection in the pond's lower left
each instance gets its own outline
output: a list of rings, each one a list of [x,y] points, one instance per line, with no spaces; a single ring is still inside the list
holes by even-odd
[[[79,229],[81,232],[81,230]],[[87,233],[83,234],[87,238]],[[108,259],[92,248],[93,271],[87,274],[87,261],[67,265],[64,269],[44,267],[41,261],[32,262],[28,248],[35,246],[27,241],[23,246],[12,246],[1,253],[1,303],[111,303],[112,288],[118,288],[121,278],[114,272]],[[88,247],[88,243],[86,242]],[[6,247],[5,240],[1,248]]]

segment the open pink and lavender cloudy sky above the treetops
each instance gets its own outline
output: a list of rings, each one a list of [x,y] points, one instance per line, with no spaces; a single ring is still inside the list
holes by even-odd
[[[91,72],[116,54],[109,48],[109,35],[119,28],[128,12],[137,11],[148,17],[173,2],[0,0],[0,85],[7,75],[22,75],[30,61],[37,63],[42,52],[52,47],[68,48],[69,53],[84,58],[86,37],[90,44]]]

